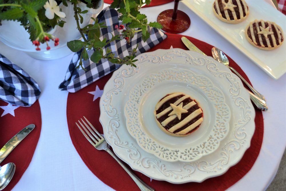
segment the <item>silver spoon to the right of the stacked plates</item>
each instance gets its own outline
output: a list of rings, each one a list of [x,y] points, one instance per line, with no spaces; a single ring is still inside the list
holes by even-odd
[[[260,94],[258,91],[256,91],[235,69],[233,69],[231,66],[229,66],[229,59],[227,56],[225,56],[225,53],[223,51],[219,50],[216,47],[212,48],[212,57],[215,58],[215,60],[219,61],[220,63],[227,66],[229,69],[231,69],[243,82],[251,89],[251,91],[260,99],[265,100],[265,97]]]

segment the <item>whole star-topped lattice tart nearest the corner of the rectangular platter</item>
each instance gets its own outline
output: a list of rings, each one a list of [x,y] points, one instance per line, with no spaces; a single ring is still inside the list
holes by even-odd
[[[245,29],[245,34],[250,44],[263,50],[273,50],[284,42],[282,28],[270,21],[251,21]]]

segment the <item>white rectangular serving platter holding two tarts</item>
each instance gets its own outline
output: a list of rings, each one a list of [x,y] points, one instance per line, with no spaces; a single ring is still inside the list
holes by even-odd
[[[245,0],[245,2],[249,7],[248,17],[241,23],[229,24],[218,19],[213,13],[212,6],[214,0],[182,1],[182,3],[257,64],[269,76],[278,79],[286,72],[286,43],[284,42],[279,48],[274,50],[261,50],[247,41],[245,28],[255,19],[273,21],[281,26],[285,38],[285,15],[263,0]]]

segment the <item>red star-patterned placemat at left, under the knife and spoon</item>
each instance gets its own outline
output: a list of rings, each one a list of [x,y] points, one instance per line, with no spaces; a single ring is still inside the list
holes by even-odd
[[[0,164],[4,166],[13,162],[16,165],[15,174],[4,189],[12,190],[28,168],[40,137],[42,121],[39,101],[31,107],[18,107],[0,100],[0,124],[0,148],[24,127],[35,124],[33,131]]]

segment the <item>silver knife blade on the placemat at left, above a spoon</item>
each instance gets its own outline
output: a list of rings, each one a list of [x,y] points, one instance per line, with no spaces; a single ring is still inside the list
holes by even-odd
[[[0,149],[0,164],[11,153],[11,151],[35,128],[34,124],[30,124],[14,137],[12,137],[5,145]]]

